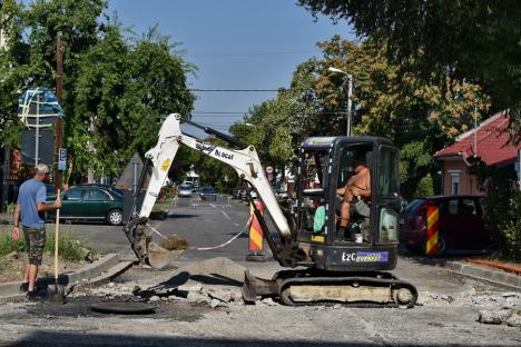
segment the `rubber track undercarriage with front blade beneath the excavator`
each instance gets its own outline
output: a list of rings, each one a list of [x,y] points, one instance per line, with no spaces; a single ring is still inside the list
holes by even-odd
[[[389,272],[360,276],[313,276],[306,270],[281,271],[273,279],[245,274],[243,297],[278,297],[287,306],[337,305],[350,307],[407,307],[416,304],[417,290]],[[345,274],[344,274],[345,275]]]

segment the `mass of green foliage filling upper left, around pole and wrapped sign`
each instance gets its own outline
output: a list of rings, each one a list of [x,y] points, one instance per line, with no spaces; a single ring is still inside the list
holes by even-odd
[[[188,115],[194,96],[178,44],[157,28],[124,34],[104,13],[104,0],[7,0],[1,9],[8,46],[0,51],[0,129],[3,145],[19,145],[18,93],[56,85],[56,37],[62,33],[65,145],[72,179],[94,168],[117,176],[134,152],[155,142],[161,119]],[[0,143],[2,145],[2,143]]]

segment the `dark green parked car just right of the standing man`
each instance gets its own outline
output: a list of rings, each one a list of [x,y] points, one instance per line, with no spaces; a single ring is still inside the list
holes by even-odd
[[[60,194],[60,220],[99,220],[117,226],[122,222],[124,198],[111,189],[96,185],[79,185]],[[56,197],[49,197],[55,200]],[[55,219],[56,211],[48,211]]]

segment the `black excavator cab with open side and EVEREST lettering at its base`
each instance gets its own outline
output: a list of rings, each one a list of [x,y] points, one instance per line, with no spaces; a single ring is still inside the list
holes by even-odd
[[[397,149],[377,137],[318,137],[302,143],[294,215],[296,240],[306,254],[303,265],[327,271],[396,266],[397,162]],[[361,168],[366,168],[370,192],[344,201],[338,190],[356,188]],[[344,204],[348,224],[341,227]]]

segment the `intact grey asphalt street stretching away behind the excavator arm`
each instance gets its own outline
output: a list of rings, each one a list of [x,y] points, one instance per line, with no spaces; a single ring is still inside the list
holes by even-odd
[[[228,257],[234,260],[244,260],[248,249],[248,230],[245,228],[248,218],[249,209],[242,201],[201,202],[195,198],[179,198],[170,208],[167,219],[153,219],[149,224],[166,237],[179,235],[186,238],[193,248],[219,246],[244,231],[226,247],[213,250],[190,249],[179,259],[195,260]],[[75,222],[63,226],[63,230],[86,240],[89,247],[99,252],[134,255],[121,227]],[[163,239],[157,234],[153,234],[153,237],[155,241]]]

